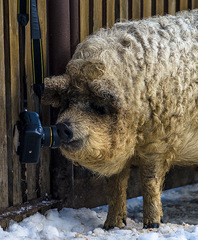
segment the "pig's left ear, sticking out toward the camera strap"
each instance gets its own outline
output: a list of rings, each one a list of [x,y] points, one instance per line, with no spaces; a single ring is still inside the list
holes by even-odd
[[[61,95],[66,94],[69,86],[69,78],[66,74],[45,78],[45,91],[42,96],[42,103],[60,107]]]

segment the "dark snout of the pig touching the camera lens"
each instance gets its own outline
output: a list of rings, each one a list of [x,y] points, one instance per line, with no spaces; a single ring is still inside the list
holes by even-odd
[[[56,125],[57,133],[60,137],[60,141],[63,143],[69,143],[73,138],[73,131],[67,123],[58,123]]]

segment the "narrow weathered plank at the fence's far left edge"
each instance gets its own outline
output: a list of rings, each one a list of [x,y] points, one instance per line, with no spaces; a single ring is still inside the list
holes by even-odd
[[[6,95],[4,62],[4,13],[3,1],[0,1],[0,208],[8,207],[8,166],[7,166],[7,132],[6,132]]]

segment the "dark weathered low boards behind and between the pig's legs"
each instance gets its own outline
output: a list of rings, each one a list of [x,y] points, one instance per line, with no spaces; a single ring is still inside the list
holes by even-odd
[[[68,166],[67,166],[68,167]],[[64,171],[65,173],[65,171]],[[59,194],[62,194],[63,191],[65,191],[65,194],[67,195],[67,200],[65,205],[67,207],[75,207],[75,208],[81,208],[81,207],[97,207],[101,205],[105,205],[108,203],[107,201],[107,179],[92,175],[90,172],[88,172],[86,169],[78,169],[75,168],[75,178],[74,178],[74,192],[71,192],[71,186],[70,192],[65,190],[65,186],[67,186],[66,178],[60,178],[62,183],[59,181]],[[60,176],[59,176],[60,177]],[[176,188],[179,186],[184,186],[187,184],[192,184],[198,182],[198,172],[194,171],[191,167],[174,167],[170,170],[170,172],[167,174],[164,188],[170,189],[170,188]],[[58,189],[56,189],[57,191]],[[74,195],[74,197],[72,197]],[[128,181],[128,189],[127,189],[127,198],[134,198],[137,196],[142,195],[141,190],[141,179],[139,174],[139,168],[138,167],[131,167],[131,174]],[[61,195],[59,195],[61,196]],[[63,199],[62,196],[62,199]]]

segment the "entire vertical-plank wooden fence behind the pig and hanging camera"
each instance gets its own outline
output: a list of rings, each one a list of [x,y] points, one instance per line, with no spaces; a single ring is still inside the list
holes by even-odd
[[[45,74],[63,73],[76,45],[100,27],[111,27],[117,20],[140,19],[164,13],[175,14],[178,10],[196,7],[198,0],[39,0]],[[28,110],[34,111],[30,24],[26,27],[26,43]],[[57,157],[57,152],[53,152],[50,163],[49,149],[42,150],[38,165],[21,165],[15,153],[13,129],[19,112],[22,111],[21,49],[17,1],[0,0],[0,208],[5,209],[50,194],[57,198],[67,196],[66,202],[71,205],[74,199],[80,198],[75,192],[80,189],[79,182],[82,184],[82,179],[89,179],[86,180],[87,185],[90,181],[94,182],[91,186],[97,185],[97,180],[93,180],[90,173],[74,168],[71,163],[65,163],[65,160]],[[50,113],[48,107],[43,108],[43,111],[44,123],[49,124],[50,115],[53,119],[56,113]],[[92,190],[90,187],[89,191]],[[99,194],[98,192],[96,197]],[[89,205],[89,199],[82,202]]]

